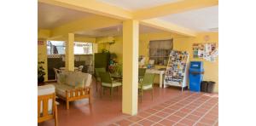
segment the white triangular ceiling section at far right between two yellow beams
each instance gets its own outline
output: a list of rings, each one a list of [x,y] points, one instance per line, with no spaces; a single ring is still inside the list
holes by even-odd
[[[194,31],[218,31],[218,6],[171,14],[158,19],[166,20]]]

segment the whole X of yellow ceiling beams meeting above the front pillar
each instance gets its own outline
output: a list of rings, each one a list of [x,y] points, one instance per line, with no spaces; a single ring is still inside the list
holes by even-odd
[[[218,5],[218,0],[184,0],[178,3],[168,3],[154,8],[130,12],[107,3],[97,2],[95,0],[38,0],[38,2],[106,16],[92,16],[55,27],[52,30],[52,37],[65,35],[68,32],[90,31],[109,26],[117,26],[121,24],[122,20],[131,19],[141,20],[140,22],[145,26],[152,26],[161,30],[172,31],[185,36],[194,37],[195,31],[189,30],[182,26],[174,25],[171,22],[152,18],[168,14],[181,13],[191,9],[201,9]]]

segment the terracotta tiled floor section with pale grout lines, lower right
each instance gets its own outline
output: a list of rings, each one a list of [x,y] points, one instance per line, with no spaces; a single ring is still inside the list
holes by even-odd
[[[111,125],[218,125],[218,94],[183,92],[175,98]]]

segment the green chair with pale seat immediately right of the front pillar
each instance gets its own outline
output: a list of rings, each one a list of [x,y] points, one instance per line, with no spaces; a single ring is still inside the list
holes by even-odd
[[[152,100],[154,97],[154,73],[145,73],[141,83],[138,83],[138,94],[141,96],[141,101],[143,100],[143,90],[151,89]]]

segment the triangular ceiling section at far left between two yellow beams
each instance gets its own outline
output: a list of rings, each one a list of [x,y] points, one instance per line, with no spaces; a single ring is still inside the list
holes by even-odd
[[[92,14],[38,3],[38,28],[52,29],[67,22],[89,17]]]

